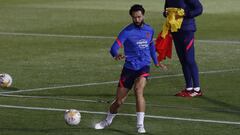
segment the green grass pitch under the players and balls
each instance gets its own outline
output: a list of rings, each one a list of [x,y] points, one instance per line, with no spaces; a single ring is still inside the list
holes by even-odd
[[[11,88],[0,88],[0,135],[137,134],[132,91],[109,128],[92,125],[115,96],[123,62],[114,61],[109,48],[131,23],[129,7],[143,4],[156,37],[163,2],[0,0],[0,73],[13,77]],[[173,96],[184,84],[174,50],[167,71],[151,68],[148,135],[240,135],[240,1],[201,2],[195,50],[204,96]],[[80,125],[64,123],[70,108],[82,111]]]

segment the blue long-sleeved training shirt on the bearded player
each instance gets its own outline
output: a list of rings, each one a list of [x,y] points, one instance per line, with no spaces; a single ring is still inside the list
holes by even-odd
[[[153,41],[154,30],[151,26],[143,24],[139,27],[129,24],[118,35],[113,43],[110,53],[113,57],[118,55],[119,48],[124,48],[124,67],[139,70],[151,64],[151,58],[155,65],[158,64],[156,49]]]

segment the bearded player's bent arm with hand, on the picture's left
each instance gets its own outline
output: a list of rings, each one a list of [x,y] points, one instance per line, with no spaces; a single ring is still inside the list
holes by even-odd
[[[118,53],[118,50],[120,48],[123,48],[123,44],[126,38],[127,38],[126,32],[122,30],[118,35],[118,37],[116,38],[116,40],[114,41],[110,49],[110,54],[112,55],[113,58],[115,58],[115,60],[121,60],[125,58],[124,55]]]

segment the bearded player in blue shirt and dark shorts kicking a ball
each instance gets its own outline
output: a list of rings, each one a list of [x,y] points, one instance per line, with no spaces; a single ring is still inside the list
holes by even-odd
[[[106,118],[97,123],[95,129],[104,129],[112,123],[129,90],[134,87],[137,132],[146,132],[144,128],[145,99],[143,92],[149,77],[151,59],[155,66],[158,67],[159,63],[153,41],[154,31],[148,24],[144,23],[144,13],[145,10],[142,5],[136,4],[131,7],[129,14],[133,23],[127,25],[120,32],[110,49],[112,57],[115,60],[125,59],[125,64],[118,83],[115,100],[111,104]],[[124,55],[118,52],[122,47],[124,48]]]

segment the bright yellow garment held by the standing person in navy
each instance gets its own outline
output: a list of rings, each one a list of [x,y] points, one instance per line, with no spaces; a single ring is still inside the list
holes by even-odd
[[[166,37],[168,31],[177,32],[178,29],[181,28],[183,22],[184,9],[182,8],[166,8],[167,11],[167,19],[166,22],[163,24],[162,34],[163,38]],[[176,16],[179,18],[176,19]]]

